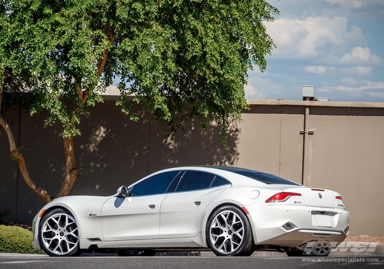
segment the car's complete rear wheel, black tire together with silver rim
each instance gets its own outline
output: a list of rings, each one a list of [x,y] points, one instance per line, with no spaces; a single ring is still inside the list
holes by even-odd
[[[247,216],[231,205],[222,206],[209,218],[206,240],[217,256],[250,256],[255,250]]]

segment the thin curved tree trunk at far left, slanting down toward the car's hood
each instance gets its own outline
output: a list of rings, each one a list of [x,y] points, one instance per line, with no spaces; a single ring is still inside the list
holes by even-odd
[[[1,71],[2,71],[2,74],[1,74],[1,81],[0,81],[0,111],[2,107],[3,87],[4,87],[4,80],[5,80],[4,66],[2,66]],[[12,130],[9,127],[7,121],[1,115],[0,115],[0,125],[3,126],[5,132],[7,133],[11,154],[17,160],[17,164],[20,168],[20,171],[22,172],[25,182],[27,183],[29,188],[32,189],[34,193],[40,196],[41,199],[43,199],[46,203],[49,203],[51,201],[51,198],[49,197],[48,193],[45,190],[41,189],[38,185],[36,185],[32,181],[31,177],[29,176],[27,165],[25,164],[23,154],[21,154],[16,148],[15,139],[13,137]]]

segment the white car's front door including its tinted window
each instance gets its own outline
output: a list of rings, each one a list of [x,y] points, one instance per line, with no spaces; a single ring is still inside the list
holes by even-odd
[[[104,241],[157,239],[160,206],[169,184],[180,173],[156,174],[134,185],[129,197],[113,197],[101,208]]]

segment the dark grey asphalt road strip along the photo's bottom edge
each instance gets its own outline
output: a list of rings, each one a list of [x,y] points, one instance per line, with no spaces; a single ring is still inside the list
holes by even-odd
[[[254,269],[254,268],[383,268],[384,257],[3,257],[0,268],[68,269],[68,268],[209,268],[209,269]]]

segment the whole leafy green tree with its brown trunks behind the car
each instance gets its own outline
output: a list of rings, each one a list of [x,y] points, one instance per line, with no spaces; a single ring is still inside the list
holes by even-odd
[[[0,98],[3,91],[12,96],[24,90],[31,114],[46,109],[46,124],[59,121],[63,127],[66,177],[55,197],[67,195],[77,176],[73,136],[80,134],[80,115],[102,101],[100,93],[116,77],[118,104],[131,119],[138,119],[133,102],[140,103],[172,138],[197,117],[204,129],[216,122],[225,143],[229,121],[240,120],[247,108],[247,70],[252,64],[265,70],[265,55],[274,48],[263,22],[278,14],[264,0],[1,3]],[[0,119],[11,142],[9,126]],[[27,171],[22,154],[13,146],[11,152]],[[23,176],[51,200],[27,172]]]

